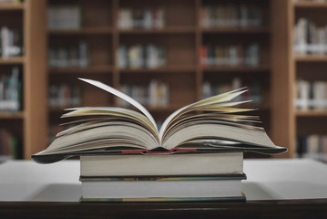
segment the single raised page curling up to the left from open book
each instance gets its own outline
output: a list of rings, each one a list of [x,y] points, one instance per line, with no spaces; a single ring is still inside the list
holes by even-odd
[[[124,99],[125,101],[127,101],[128,103],[130,103],[131,105],[136,107],[138,110],[140,110],[148,118],[148,120],[151,121],[151,123],[153,124],[153,126],[156,128],[156,130],[158,132],[158,127],[157,127],[156,121],[153,119],[153,117],[148,112],[148,110],[145,109],[145,107],[143,107],[137,100],[132,99],[128,95],[124,94],[123,92],[120,92],[118,89],[114,89],[114,88],[108,86],[107,84],[104,84],[104,83],[99,82],[97,80],[87,79],[87,78],[78,78],[78,79],[83,80],[83,81],[85,81],[88,84],[91,84],[93,86],[96,86],[99,89],[104,89],[107,92],[117,96],[120,99]]]

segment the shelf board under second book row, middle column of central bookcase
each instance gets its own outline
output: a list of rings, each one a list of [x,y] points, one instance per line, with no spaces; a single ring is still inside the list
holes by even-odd
[[[194,72],[195,66],[171,66],[162,68],[124,68],[119,69],[121,73],[175,73],[175,72]]]

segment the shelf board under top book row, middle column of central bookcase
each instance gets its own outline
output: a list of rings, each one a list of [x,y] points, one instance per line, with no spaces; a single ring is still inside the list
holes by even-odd
[[[193,26],[171,26],[171,27],[164,27],[161,29],[119,29],[119,34],[135,34],[135,35],[142,35],[142,34],[194,34],[195,27]]]

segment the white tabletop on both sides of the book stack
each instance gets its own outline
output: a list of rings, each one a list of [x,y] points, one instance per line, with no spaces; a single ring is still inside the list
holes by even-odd
[[[327,165],[309,159],[245,160],[242,191],[248,201],[326,199]],[[78,202],[79,161],[0,164],[0,202]]]

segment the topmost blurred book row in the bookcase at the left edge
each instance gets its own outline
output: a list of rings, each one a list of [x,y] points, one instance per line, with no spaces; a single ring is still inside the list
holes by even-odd
[[[23,31],[9,29],[6,26],[0,30],[0,56],[4,58],[23,55]]]

